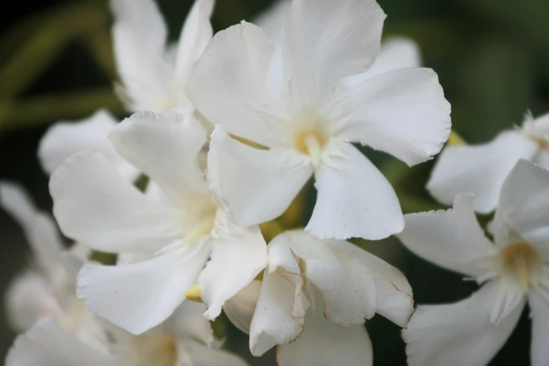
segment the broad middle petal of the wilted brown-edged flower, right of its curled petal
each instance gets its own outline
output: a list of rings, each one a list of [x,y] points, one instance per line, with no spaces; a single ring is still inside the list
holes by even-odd
[[[376,287],[367,266],[305,231],[286,232],[294,254],[304,261],[305,277],[324,297],[324,316],[341,327],[365,322],[376,311]],[[320,309],[318,309],[320,311]]]

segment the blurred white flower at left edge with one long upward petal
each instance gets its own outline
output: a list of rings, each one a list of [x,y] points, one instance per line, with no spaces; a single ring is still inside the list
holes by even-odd
[[[6,311],[13,330],[27,331],[41,318],[53,317],[62,327],[88,344],[104,336],[83,302],[76,297],[76,272],[87,250],[70,252],[52,217],[34,206],[25,191],[0,182],[0,206],[22,227],[32,250],[32,267],[13,280],[6,292]]]

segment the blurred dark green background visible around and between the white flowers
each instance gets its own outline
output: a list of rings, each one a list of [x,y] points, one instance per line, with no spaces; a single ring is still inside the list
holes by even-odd
[[[337,0],[334,0],[337,1]],[[253,20],[270,0],[218,0],[215,29]],[[159,0],[173,38],[179,35],[190,0]],[[385,36],[409,36],[424,64],[438,72],[452,122],[468,142],[489,140],[502,128],[549,110],[549,1],[547,0],[379,0],[388,14]],[[48,125],[83,118],[107,107],[126,116],[112,91],[116,78],[111,54],[107,1],[20,1],[5,8],[0,34],[0,179],[22,183],[41,207],[51,208],[48,178],[36,160],[39,138]],[[430,163],[412,169],[367,151],[395,184],[405,211],[435,208],[423,189]],[[0,292],[28,262],[20,228],[0,212],[3,248]],[[416,304],[456,301],[476,285],[413,257],[394,239],[358,242],[409,278]],[[528,310],[508,344],[490,365],[528,365]],[[227,325],[227,345],[252,365],[274,365],[271,351],[249,354],[246,337]],[[367,323],[374,365],[405,365],[398,327],[377,316]],[[0,319],[0,354],[14,334]],[[442,366],[442,365],[441,365]]]

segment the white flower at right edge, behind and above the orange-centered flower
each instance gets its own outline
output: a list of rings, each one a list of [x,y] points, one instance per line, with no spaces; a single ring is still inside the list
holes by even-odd
[[[485,144],[446,147],[427,189],[448,205],[456,194],[470,192],[475,211],[492,212],[503,180],[520,158],[549,168],[549,114],[536,119],[527,114],[522,128],[503,131]]]

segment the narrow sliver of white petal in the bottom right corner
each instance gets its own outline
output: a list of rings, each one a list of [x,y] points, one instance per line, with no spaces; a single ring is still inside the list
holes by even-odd
[[[549,365],[549,303],[546,296],[532,290],[528,295],[530,318],[532,320],[532,339],[530,357],[532,366]]]

